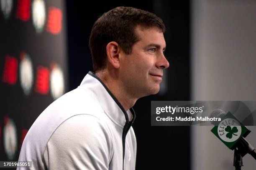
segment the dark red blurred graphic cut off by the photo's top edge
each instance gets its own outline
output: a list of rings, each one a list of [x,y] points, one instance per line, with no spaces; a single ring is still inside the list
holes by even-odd
[[[30,18],[31,0],[18,0],[16,17],[23,21],[28,21]]]

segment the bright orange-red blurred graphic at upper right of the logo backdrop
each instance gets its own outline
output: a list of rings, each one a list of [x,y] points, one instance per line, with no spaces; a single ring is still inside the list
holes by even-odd
[[[47,31],[52,34],[59,34],[62,25],[62,12],[59,8],[49,7],[48,20],[47,20]]]

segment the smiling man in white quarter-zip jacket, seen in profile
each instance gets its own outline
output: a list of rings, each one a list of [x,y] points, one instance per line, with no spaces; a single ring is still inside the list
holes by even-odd
[[[104,13],[90,35],[95,73],[41,113],[19,161],[32,161],[36,170],[134,170],[132,106],[159,92],[169,67],[164,30],[162,20],[144,10],[116,7]]]

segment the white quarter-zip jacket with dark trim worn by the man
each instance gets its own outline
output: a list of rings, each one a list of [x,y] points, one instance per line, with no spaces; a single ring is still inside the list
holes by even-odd
[[[17,170],[135,170],[135,113],[92,72],[49,105],[29,129]]]

